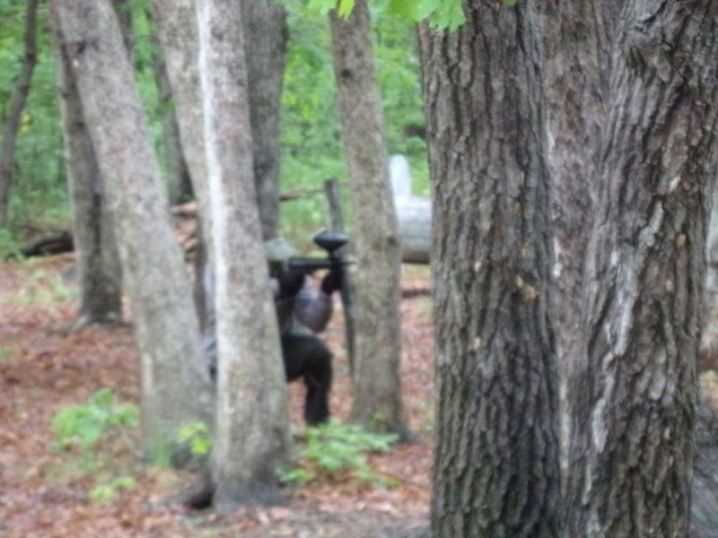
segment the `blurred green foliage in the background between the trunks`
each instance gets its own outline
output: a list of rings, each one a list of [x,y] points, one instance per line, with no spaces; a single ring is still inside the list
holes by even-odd
[[[135,77],[159,156],[162,177],[172,197],[178,188],[177,152],[172,134],[163,126],[173,103],[158,78],[155,23],[148,16],[149,0],[128,0],[116,6],[132,17],[132,56]],[[281,97],[281,190],[320,189],[326,178],[346,178],[337,113],[328,17],[301,0],[282,3],[286,12],[287,44]],[[415,194],[428,195],[425,121],[419,84],[416,30],[412,22],[386,16],[386,2],[372,2],[372,31],[377,76],[381,86],[390,154],[403,153],[411,164]],[[27,2],[0,4],[0,120],[5,121],[17,77],[22,69]],[[0,255],[37,230],[70,229],[70,205],[63,157],[62,128],[57,104],[55,57],[50,46],[46,3],[38,13],[38,62],[22,110],[16,139],[13,187],[8,220],[0,228]],[[171,122],[170,122],[171,123]],[[182,173],[181,171],[179,173]],[[184,191],[181,189],[184,188]],[[180,194],[176,194],[177,192]],[[294,244],[306,245],[311,232],[326,225],[322,195],[280,205],[280,232]],[[349,218],[351,208],[345,204]]]

